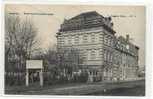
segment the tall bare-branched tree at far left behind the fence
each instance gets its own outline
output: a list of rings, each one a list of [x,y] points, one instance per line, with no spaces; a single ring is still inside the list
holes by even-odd
[[[25,60],[30,59],[32,52],[37,50],[37,28],[30,19],[21,20],[19,16],[5,16],[5,66],[10,68],[15,62],[14,69],[25,68]],[[12,64],[11,64],[12,65]],[[12,67],[11,67],[12,69]]]

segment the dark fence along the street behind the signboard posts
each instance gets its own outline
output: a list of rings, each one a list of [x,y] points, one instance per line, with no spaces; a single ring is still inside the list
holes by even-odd
[[[25,72],[6,72],[5,73],[5,84],[12,85],[24,85],[25,84]],[[31,73],[29,77],[30,82],[39,81],[39,75],[36,73]],[[65,74],[59,72],[43,72],[44,85],[53,85],[53,84],[64,84],[64,83],[80,83],[87,82],[88,73],[73,73]]]

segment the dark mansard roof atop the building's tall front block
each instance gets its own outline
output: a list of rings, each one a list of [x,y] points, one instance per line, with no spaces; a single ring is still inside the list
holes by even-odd
[[[112,29],[111,17],[103,17],[96,11],[81,13],[77,16],[64,20],[60,31],[81,30],[94,27],[103,27],[110,33],[115,33]]]

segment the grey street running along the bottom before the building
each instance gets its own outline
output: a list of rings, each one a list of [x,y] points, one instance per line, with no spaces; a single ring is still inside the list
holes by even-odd
[[[144,96],[145,81],[97,82],[40,87],[39,85],[6,87],[6,94],[21,95],[103,95]]]

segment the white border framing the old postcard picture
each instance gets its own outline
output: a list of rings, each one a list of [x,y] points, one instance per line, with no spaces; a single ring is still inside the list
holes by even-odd
[[[146,96],[145,97],[125,97],[125,96],[58,96],[58,95],[4,95],[4,4],[63,4],[63,5],[67,5],[67,4],[75,4],[75,5],[145,5],[146,6],[146,35],[145,35],[145,39],[146,39],[146,49],[145,49],[145,53],[146,53]],[[152,33],[153,33],[153,14],[152,14],[152,8],[153,5],[151,4],[151,0],[148,0],[147,2],[145,0],[128,0],[128,1],[124,1],[123,0],[85,0],[85,1],[81,1],[81,0],[75,0],[75,1],[71,1],[71,0],[24,0],[24,1],[20,1],[20,0],[5,0],[2,2],[1,4],[1,21],[2,21],[2,26],[1,26],[1,32],[0,33],[0,78],[3,79],[1,80],[1,86],[0,86],[0,91],[2,93],[2,95],[7,96],[7,98],[97,98],[97,99],[101,99],[101,98],[105,98],[105,99],[136,99],[136,98],[140,98],[140,99],[151,99],[151,96],[153,94],[152,90],[152,61],[153,61],[153,57],[152,57]],[[141,57],[141,56],[140,56]],[[16,97],[18,96],[18,97]],[[23,97],[24,96],[24,97]]]

